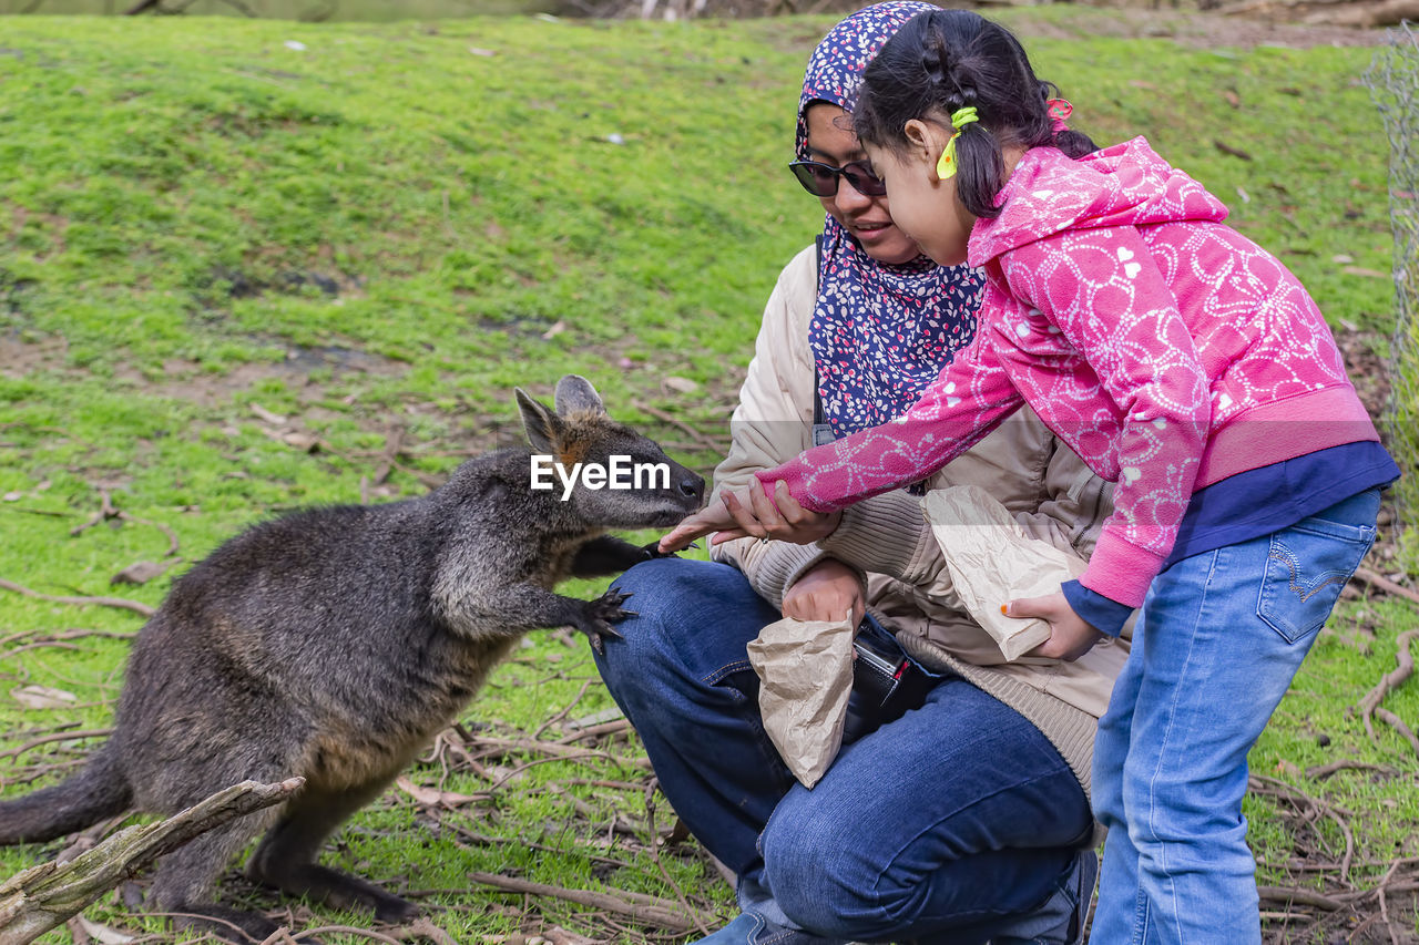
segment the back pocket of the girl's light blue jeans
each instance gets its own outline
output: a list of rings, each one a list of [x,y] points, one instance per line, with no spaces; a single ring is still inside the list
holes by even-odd
[[[1365,525],[1307,518],[1271,535],[1256,614],[1287,643],[1315,633],[1375,542]]]

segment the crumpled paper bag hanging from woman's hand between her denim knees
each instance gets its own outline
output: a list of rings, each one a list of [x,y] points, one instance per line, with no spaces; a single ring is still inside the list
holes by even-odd
[[[843,620],[785,617],[749,643],[759,712],[779,756],[812,788],[837,758],[853,692],[853,636]]]

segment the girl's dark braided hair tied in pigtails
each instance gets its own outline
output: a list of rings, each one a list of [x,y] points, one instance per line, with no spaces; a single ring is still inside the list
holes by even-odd
[[[1057,95],[1009,30],[969,10],[929,10],[908,20],[867,65],[853,125],[864,143],[900,152],[908,121],[949,128],[952,114],[973,106],[979,121],[961,128],[955,146],[956,193],[969,213],[993,219],[1006,179],[1003,148],[1053,146],[1070,158],[1097,150],[1050,114]]]

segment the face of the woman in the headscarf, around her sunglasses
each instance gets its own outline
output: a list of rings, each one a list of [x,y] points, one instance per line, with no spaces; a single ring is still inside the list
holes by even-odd
[[[837,105],[815,102],[807,108],[807,156],[841,167],[853,160],[867,160],[851,119]],[[887,197],[867,197],[846,177],[837,179],[837,193],[819,197],[823,210],[851,233],[867,255],[878,262],[898,265],[921,255],[917,244],[891,221]]]

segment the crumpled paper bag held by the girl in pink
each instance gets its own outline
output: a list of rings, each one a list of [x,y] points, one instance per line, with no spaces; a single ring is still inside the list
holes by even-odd
[[[1006,661],[1049,640],[1044,620],[1006,617],[1000,606],[1057,592],[1084,573],[1084,559],[1026,536],[1009,509],[979,485],[932,490],[922,509],[962,604]]]

